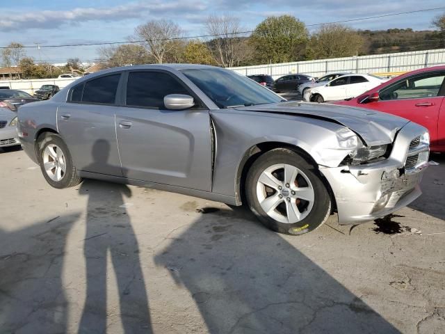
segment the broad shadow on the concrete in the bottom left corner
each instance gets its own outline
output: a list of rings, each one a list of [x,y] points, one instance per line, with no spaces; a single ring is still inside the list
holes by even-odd
[[[67,333],[62,270],[67,234],[79,216],[0,228],[0,333]]]

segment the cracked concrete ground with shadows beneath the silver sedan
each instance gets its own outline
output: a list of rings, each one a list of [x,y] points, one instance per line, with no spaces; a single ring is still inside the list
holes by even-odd
[[[243,209],[0,153],[0,333],[445,333],[445,157],[386,221],[289,237]]]

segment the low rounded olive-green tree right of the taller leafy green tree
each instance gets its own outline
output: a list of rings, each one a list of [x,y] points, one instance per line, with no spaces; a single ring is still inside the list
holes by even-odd
[[[307,54],[313,59],[349,57],[361,53],[363,45],[362,36],[348,26],[323,24],[312,35]]]

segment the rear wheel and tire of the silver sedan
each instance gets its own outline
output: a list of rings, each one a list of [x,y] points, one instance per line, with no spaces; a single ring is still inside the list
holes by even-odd
[[[40,170],[49,185],[57,189],[76,186],[82,179],[77,175],[70,150],[58,134],[47,134],[39,143]]]

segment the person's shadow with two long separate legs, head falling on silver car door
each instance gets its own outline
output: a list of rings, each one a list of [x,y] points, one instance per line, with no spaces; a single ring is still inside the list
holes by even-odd
[[[109,152],[107,141],[96,141],[92,150],[92,165],[106,166]],[[84,180],[79,194],[88,196],[83,247],[87,276],[86,302],[79,333],[106,333],[107,295],[110,295],[107,294],[107,277],[113,272],[119,295],[115,303],[120,305],[124,333],[152,333],[138,241],[124,203],[125,197],[131,197],[131,189],[124,184]],[[107,266],[108,253],[111,267]]]

